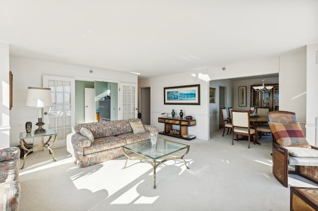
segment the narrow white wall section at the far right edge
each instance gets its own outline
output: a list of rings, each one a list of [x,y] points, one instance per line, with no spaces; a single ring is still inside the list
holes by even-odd
[[[318,43],[307,46],[306,138],[318,146]],[[305,106],[305,105],[303,105]]]

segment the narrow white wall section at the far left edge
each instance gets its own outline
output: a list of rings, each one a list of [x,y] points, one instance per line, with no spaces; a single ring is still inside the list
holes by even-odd
[[[9,147],[9,45],[0,42],[0,148]]]

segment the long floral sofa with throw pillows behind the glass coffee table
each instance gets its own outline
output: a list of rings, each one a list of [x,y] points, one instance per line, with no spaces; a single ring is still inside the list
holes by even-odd
[[[137,118],[76,124],[67,136],[67,151],[80,167],[94,165],[123,156],[121,146],[150,139],[150,132],[158,132],[158,127]]]

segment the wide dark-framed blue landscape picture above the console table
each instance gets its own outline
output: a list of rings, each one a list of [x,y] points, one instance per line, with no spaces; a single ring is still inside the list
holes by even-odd
[[[200,105],[200,84],[164,87],[164,104],[171,105]]]

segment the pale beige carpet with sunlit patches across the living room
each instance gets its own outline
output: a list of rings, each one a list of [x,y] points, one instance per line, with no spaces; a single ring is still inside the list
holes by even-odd
[[[186,141],[159,138],[190,145],[183,162],[172,160],[157,169],[157,189],[149,163],[125,157],[79,168],[66,148],[55,149],[58,161],[48,151],[35,152],[20,170],[20,211],[287,211],[290,186],[317,187],[297,175],[289,187],[272,174],[271,139],[261,145],[222,137]],[[23,162],[23,160],[21,160]]]

